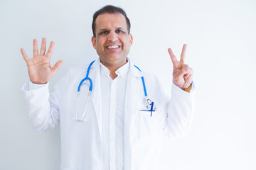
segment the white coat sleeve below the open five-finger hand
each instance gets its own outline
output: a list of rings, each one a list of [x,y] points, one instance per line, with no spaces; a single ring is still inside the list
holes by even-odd
[[[65,75],[55,85],[55,91],[50,94],[49,83],[31,89],[29,80],[22,87],[28,110],[28,120],[38,132],[52,130],[60,122],[59,105],[62,91],[65,88],[68,75]]]

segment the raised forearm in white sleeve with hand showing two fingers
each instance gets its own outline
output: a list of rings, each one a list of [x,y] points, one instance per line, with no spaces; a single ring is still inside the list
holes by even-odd
[[[168,49],[174,66],[171,101],[167,105],[167,127],[169,134],[184,136],[188,133],[193,117],[193,69],[184,64],[186,46],[183,45],[181,60],[178,61]]]

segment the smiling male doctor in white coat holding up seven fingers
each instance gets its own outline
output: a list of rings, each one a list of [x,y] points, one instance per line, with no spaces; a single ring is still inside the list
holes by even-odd
[[[122,8],[95,12],[92,31],[99,58],[70,69],[52,94],[49,81],[63,63],[50,67],[54,42],[46,52],[43,38],[38,54],[33,40],[33,58],[21,48],[30,78],[22,89],[31,125],[43,132],[60,124],[62,170],[157,169],[161,137],[186,135],[191,125],[193,70],[184,64],[186,45],[180,61],[168,50],[174,65],[169,99],[156,77],[127,58],[133,38]],[[91,82],[81,81],[85,77]]]

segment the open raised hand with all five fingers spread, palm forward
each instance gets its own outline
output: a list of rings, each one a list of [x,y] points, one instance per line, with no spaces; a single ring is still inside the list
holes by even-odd
[[[33,58],[29,58],[26,52],[21,48],[21,54],[28,66],[28,76],[33,84],[46,84],[53,78],[63,60],[59,60],[53,67],[50,67],[50,57],[53,53],[54,42],[50,42],[48,52],[46,52],[46,38],[43,38],[41,50],[38,55],[37,40],[33,40]],[[46,54],[45,54],[46,53]]]

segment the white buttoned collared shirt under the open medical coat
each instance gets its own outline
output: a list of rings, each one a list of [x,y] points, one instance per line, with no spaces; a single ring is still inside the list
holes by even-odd
[[[100,63],[102,96],[102,170],[124,169],[124,98],[129,61],[110,77],[110,70]]]

